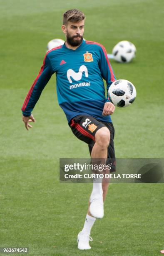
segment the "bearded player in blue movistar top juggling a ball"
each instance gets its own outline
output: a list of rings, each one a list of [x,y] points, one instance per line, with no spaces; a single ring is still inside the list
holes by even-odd
[[[84,13],[80,10],[64,13],[62,31],[66,36],[65,44],[47,52],[22,106],[22,120],[27,130],[32,128],[30,122],[35,122],[32,110],[52,74],[56,73],[58,102],[72,132],[89,145],[92,160],[102,159],[101,163],[104,161],[105,164],[107,158],[115,159],[114,127],[110,118],[115,107],[105,98],[103,79],[107,90],[116,79],[104,46],[83,39],[84,20]],[[113,171],[114,164],[110,172]],[[77,236],[81,250],[91,248],[90,231],[96,218],[104,216],[108,185],[102,179],[93,181],[84,227]]]

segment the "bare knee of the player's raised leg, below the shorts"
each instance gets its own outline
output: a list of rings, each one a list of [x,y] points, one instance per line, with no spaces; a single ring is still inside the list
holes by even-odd
[[[95,141],[102,150],[108,147],[110,142],[110,132],[107,127],[102,127],[96,132]]]

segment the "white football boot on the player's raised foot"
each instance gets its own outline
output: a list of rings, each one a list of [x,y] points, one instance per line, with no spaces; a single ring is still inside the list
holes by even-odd
[[[94,218],[102,219],[104,217],[104,202],[102,196],[90,198],[89,212]]]

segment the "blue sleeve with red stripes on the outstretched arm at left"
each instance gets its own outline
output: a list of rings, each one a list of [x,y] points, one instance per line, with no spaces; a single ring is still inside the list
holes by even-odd
[[[42,90],[46,86],[47,82],[50,80],[53,73],[54,72],[52,70],[50,60],[46,54],[40,72],[35,81],[33,82],[22,106],[22,114],[24,116],[31,115],[35,104],[39,100]]]

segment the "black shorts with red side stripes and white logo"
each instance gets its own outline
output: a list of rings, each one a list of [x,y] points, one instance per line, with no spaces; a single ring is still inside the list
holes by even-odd
[[[110,131],[110,143],[108,146],[107,164],[111,164],[110,172],[116,171],[116,157],[114,151],[114,126],[110,122],[103,122],[97,120],[89,115],[77,115],[70,121],[70,128],[75,136],[88,144],[89,152],[91,155],[92,148],[95,143],[95,133],[102,127],[107,127]]]

